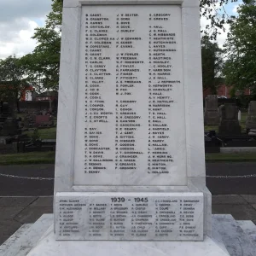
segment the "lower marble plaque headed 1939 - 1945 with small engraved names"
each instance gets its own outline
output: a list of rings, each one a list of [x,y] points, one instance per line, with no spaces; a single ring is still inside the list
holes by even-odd
[[[202,193],[63,192],[57,240],[202,241]]]

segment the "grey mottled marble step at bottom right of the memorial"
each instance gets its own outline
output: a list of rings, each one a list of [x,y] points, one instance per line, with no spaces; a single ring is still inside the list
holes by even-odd
[[[230,214],[212,215],[212,235],[224,242],[230,256],[256,256],[255,244]]]

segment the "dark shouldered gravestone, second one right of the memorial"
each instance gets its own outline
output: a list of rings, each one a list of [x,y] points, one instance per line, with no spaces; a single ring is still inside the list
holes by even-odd
[[[234,104],[225,104],[220,108],[221,122],[218,134],[225,136],[241,135],[241,126],[238,121],[238,107]]]

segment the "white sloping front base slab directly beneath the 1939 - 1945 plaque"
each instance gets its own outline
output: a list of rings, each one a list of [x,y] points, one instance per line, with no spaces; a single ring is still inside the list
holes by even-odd
[[[230,255],[217,241],[55,241],[52,228],[27,256]]]

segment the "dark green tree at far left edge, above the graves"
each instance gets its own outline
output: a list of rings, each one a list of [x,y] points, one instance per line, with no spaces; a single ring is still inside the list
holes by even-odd
[[[15,102],[17,111],[20,112],[20,96],[28,86],[25,79],[25,69],[20,59],[9,56],[0,60],[0,99]]]

